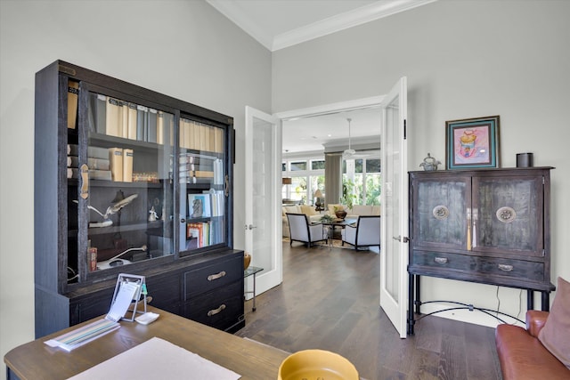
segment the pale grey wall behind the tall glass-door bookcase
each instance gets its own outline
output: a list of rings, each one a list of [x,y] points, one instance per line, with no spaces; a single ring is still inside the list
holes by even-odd
[[[0,354],[34,338],[34,76],[58,59],[234,117],[271,110],[271,53],[203,1],[0,2]],[[242,207],[243,202],[236,202]],[[235,213],[235,224],[243,225]],[[235,247],[243,248],[242,229]],[[0,371],[4,375],[4,369]]]

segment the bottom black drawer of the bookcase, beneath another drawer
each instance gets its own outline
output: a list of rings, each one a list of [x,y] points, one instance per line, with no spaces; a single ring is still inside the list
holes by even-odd
[[[184,316],[221,330],[232,327],[243,315],[241,281],[185,303]]]

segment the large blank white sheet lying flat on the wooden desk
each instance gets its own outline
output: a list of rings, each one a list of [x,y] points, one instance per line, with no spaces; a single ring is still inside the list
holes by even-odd
[[[153,337],[132,349],[103,361],[101,364],[70,377],[72,380],[238,380],[235,372],[171,344]]]

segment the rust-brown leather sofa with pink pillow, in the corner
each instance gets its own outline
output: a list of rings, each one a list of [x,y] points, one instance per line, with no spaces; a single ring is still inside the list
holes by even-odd
[[[499,325],[495,343],[504,380],[570,379],[570,283],[558,278],[549,311],[526,311],[526,328]]]

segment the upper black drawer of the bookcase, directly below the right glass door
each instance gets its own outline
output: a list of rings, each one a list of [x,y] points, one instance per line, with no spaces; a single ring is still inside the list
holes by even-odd
[[[243,256],[184,273],[184,301],[243,278]]]

